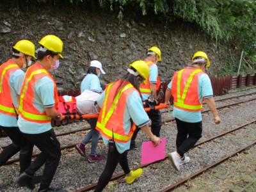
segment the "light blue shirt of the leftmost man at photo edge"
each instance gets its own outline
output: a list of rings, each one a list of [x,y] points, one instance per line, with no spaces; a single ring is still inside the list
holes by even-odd
[[[8,85],[10,87],[12,103],[16,108],[19,108],[19,95],[22,88],[24,74],[24,71],[22,71],[21,69],[15,70],[14,72],[10,73]],[[3,127],[18,127],[17,118],[16,116],[0,113],[0,125]]]

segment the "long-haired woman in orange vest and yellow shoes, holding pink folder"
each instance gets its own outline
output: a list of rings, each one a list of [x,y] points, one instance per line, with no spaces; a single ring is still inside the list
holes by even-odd
[[[149,129],[150,122],[143,109],[139,86],[147,79],[149,68],[144,61],[134,61],[129,65],[128,73],[106,86],[106,90],[97,100],[100,111],[96,129],[102,134],[104,144],[109,147],[108,159],[100,175],[95,191],[102,191],[111,179],[119,163],[125,173],[125,179],[131,184],[140,177],[142,169],[131,171],[127,160],[135,124],[159,145],[160,139]]]

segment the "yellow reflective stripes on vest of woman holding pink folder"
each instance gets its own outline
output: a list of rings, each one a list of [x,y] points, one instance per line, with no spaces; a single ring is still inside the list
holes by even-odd
[[[106,136],[109,139],[111,139],[114,134],[115,141],[126,143],[127,141],[131,140],[131,138],[132,138],[132,134],[134,132],[134,129],[136,128],[135,124],[132,124],[131,131],[129,132],[129,134],[125,134],[123,127],[108,127],[108,121],[111,118],[111,116],[113,115],[113,113],[116,111],[116,106],[117,106],[120,98],[123,96],[123,93],[127,92],[127,91],[133,92],[135,90],[135,88],[132,86],[131,83],[126,84],[121,90],[119,90],[119,92],[115,96],[115,99],[113,99],[113,102],[111,103],[110,108],[107,109],[107,106],[109,104],[108,102],[111,102],[109,100],[109,93],[111,92],[111,87],[113,86],[113,84],[114,83],[111,83],[106,87],[106,95],[105,95],[105,99],[104,99],[104,104],[103,104],[102,110],[100,111],[96,129],[99,130],[102,133],[102,135]],[[122,107],[125,108],[125,104]],[[119,114],[119,115],[122,116],[124,114]],[[118,120],[122,121],[123,118],[122,119],[120,118]],[[116,120],[116,121],[118,121],[118,120]],[[111,130],[112,128],[113,128],[113,132]],[[115,128],[119,129],[119,130],[116,130]]]

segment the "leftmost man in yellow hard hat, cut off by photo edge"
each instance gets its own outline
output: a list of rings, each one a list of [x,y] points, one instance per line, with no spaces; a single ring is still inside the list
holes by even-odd
[[[17,125],[19,95],[24,78],[21,68],[35,58],[35,45],[29,40],[20,40],[12,48],[12,58],[0,66],[0,128],[12,140],[12,144],[0,154],[0,166],[20,151],[20,173],[31,163],[33,145],[22,136]]]

